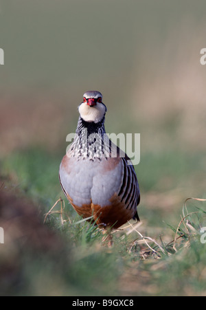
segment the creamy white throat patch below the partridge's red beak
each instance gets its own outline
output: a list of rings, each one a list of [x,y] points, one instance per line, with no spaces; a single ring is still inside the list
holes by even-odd
[[[104,116],[104,113],[106,112],[104,104],[101,104],[98,102],[93,107],[90,107],[87,104],[87,102],[82,102],[82,104],[80,104],[78,110],[79,110],[81,118],[85,122],[95,122],[95,123],[100,122],[100,120],[102,120],[102,118]]]

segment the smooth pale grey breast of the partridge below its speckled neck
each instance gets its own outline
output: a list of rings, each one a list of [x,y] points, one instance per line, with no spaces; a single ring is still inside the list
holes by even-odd
[[[76,206],[94,203],[101,207],[111,204],[111,197],[118,194],[124,178],[121,158],[87,159],[65,157],[60,165],[62,188]]]

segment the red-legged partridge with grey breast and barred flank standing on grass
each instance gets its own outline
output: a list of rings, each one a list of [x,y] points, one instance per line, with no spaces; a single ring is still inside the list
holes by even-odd
[[[62,158],[59,180],[74,210],[99,228],[139,221],[139,183],[130,158],[106,135],[100,91],[86,91],[78,106],[76,134]]]

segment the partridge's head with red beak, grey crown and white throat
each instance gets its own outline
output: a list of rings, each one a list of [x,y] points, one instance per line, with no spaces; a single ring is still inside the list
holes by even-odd
[[[85,122],[100,122],[106,113],[106,106],[102,102],[102,93],[100,91],[87,91],[83,98],[83,102],[78,107],[80,117]]]

